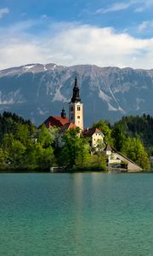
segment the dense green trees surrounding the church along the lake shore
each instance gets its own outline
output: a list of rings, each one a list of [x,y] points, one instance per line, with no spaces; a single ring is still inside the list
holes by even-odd
[[[71,170],[106,170],[105,145],[91,154],[90,141],[77,130],[65,131],[63,147],[59,148],[59,128],[38,129],[30,120],[15,113],[0,114],[0,170],[43,171],[51,166],[66,166]],[[123,117],[115,125],[99,120],[98,127],[105,134],[105,143],[127,155],[144,169],[150,168],[148,154],[153,150],[153,118]]]

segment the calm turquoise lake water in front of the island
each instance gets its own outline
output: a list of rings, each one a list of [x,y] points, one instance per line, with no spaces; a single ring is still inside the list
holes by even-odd
[[[1,174],[8,255],[153,255],[153,175]]]

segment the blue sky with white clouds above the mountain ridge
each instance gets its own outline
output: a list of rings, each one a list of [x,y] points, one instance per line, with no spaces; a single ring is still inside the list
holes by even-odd
[[[153,0],[1,0],[0,69],[153,68]]]

